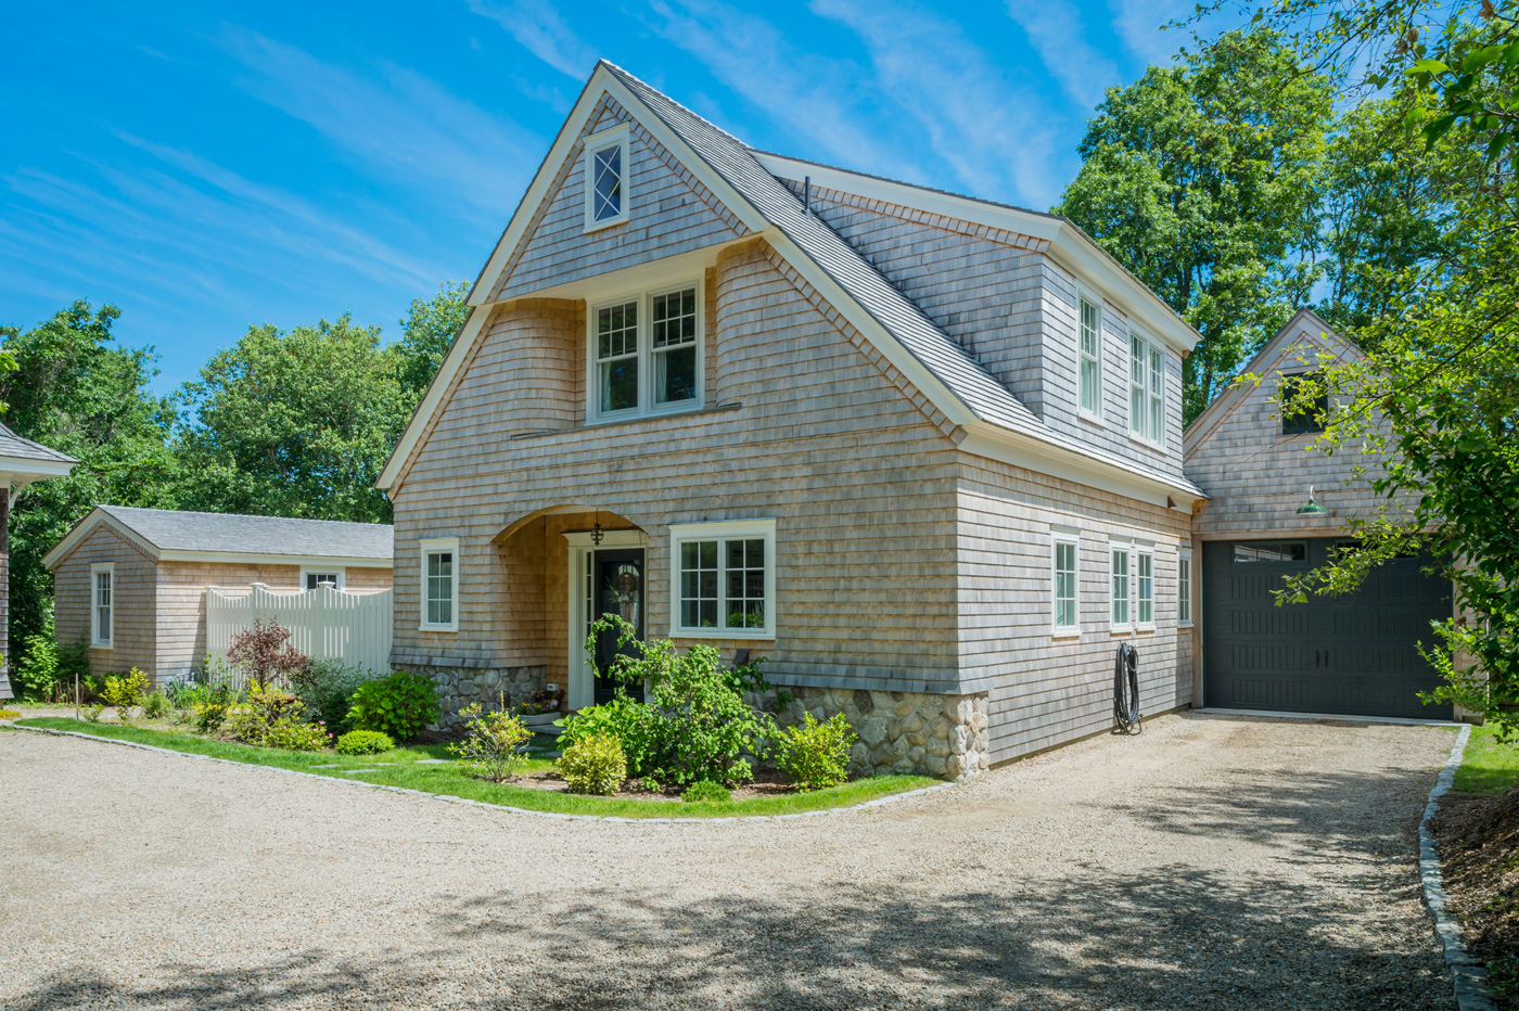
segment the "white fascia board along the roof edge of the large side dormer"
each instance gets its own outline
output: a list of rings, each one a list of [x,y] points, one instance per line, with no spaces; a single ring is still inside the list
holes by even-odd
[[[876,179],[846,168],[814,165],[781,155],[755,152],[755,158],[764,165],[766,172],[782,179],[804,179],[811,176],[813,182],[828,190],[854,193],[872,200],[898,203],[927,211],[928,214],[942,214],[943,217],[954,217],[972,225],[984,225],[987,228],[1028,235],[1030,238],[1041,238],[1050,243],[1050,249],[1060,264],[1075,273],[1077,278],[1100,291],[1127,296],[1127,304],[1126,299],[1118,299],[1124,313],[1133,316],[1144,329],[1159,335],[1174,349],[1191,354],[1197,342],[1202,340],[1202,334],[1177,316],[1170,305],[1162,302],[1154,291],[1129,273],[1123,264],[1113,260],[1112,254],[1063,217],[927,190],[907,182]]]

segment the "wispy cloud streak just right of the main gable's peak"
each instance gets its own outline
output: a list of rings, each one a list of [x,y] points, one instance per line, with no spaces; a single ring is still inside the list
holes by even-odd
[[[650,27],[702,62],[725,87],[816,147],[813,156],[917,181],[921,165],[883,143],[849,97],[860,68],[799,52],[781,30],[712,0],[652,0]]]

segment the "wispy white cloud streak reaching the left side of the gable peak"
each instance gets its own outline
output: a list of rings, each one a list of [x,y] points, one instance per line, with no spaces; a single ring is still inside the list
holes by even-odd
[[[416,71],[380,64],[355,73],[237,27],[222,44],[246,68],[251,96],[392,178],[428,181],[474,208],[507,214],[538,167],[541,138]]]

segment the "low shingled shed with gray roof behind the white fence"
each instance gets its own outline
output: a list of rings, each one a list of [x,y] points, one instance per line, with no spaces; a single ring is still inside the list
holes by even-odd
[[[184,677],[207,651],[207,589],[223,595],[390,589],[387,524],[97,506],[53,548],[53,627],[96,671]]]

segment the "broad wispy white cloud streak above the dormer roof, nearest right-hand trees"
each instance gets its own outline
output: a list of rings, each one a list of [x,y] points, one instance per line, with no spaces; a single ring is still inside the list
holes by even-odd
[[[958,24],[870,0],[813,0],[870,53],[880,99],[917,120],[928,143],[977,196],[1053,203],[1060,173],[1050,112],[995,67]]]

